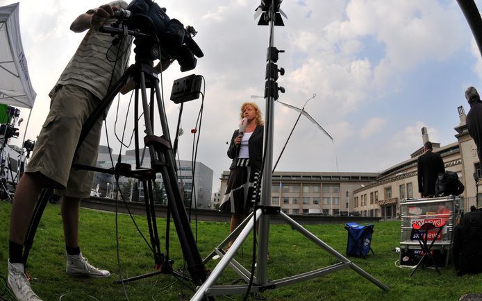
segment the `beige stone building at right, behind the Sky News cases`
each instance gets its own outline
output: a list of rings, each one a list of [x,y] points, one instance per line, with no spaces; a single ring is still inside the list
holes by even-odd
[[[454,128],[456,141],[440,146],[433,143],[433,153],[439,153],[446,171],[454,171],[463,182],[465,191],[460,198],[467,210],[476,204],[476,181],[474,172],[480,169],[477,148],[465,124],[465,111],[458,107],[460,123]],[[426,128],[422,128],[422,146],[429,141]],[[423,154],[423,147],[415,150],[410,159],[391,166],[379,173],[375,182],[354,191],[354,211],[362,216],[381,216],[385,219],[397,218],[400,213],[399,201],[404,198],[419,198],[417,181],[417,158]],[[380,215],[377,215],[380,214]]]

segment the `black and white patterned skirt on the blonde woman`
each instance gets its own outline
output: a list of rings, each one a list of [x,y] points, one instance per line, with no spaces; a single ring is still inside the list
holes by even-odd
[[[260,195],[259,173],[259,170],[251,169],[248,158],[238,159],[236,168],[229,173],[226,192],[219,209],[235,214],[249,214],[256,201],[256,194]]]

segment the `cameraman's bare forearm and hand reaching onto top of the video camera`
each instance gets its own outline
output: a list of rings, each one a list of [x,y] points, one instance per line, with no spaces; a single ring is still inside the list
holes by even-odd
[[[108,4],[88,10],[82,15],[79,15],[74,22],[72,22],[70,30],[75,33],[81,33],[90,28],[98,30],[104,25],[104,22],[106,22],[107,19],[113,17],[116,10],[119,10],[117,6],[110,6]]]

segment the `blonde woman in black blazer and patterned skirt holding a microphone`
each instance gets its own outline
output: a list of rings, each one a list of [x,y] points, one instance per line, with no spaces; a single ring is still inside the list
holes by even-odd
[[[235,130],[231,137],[228,157],[233,162],[229,167],[226,192],[219,207],[221,211],[231,212],[230,233],[246,218],[259,195],[258,175],[263,160],[264,122],[258,105],[243,103],[240,117],[247,119],[247,126],[243,135]],[[229,246],[232,243],[233,241]]]

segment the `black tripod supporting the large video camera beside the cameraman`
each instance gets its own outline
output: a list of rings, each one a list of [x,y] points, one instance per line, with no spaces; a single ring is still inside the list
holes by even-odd
[[[114,34],[119,33],[119,28],[104,27],[103,31]],[[122,29],[120,29],[122,33]],[[159,273],[173,274],[176,273],[172,268],[172,261],[169,260],[169,223],[172,216],[178,239],[181,244],[183,258],[190,274],[190,279],[194,284],[201,285],[206,279],[206,269],[204,268],[201,255],[197,248],[194,235],[190,227],[188,214],[186,213],[183,197],[178,187],[176,175],[176,162],[174,159],[174,152],[172,144],[169,140],[169,128],[167,126],[167,117],[165,115],[163,99],[160,95],[158,71],[153,68],[153,60],[158,58],[158,44],[156,39],[144,33],[128,31],[129,34],[135,36],[135,64],[128,67],[124,74],[119,78],[117,83],[111,87],[108,94],[101,100],[94,112],[85,121],[81,131],[81,136],[78,141],[77,148],[82,144],[88,132],[94,126],[94,123],[105,114],[106,109],[113,101],[115,96],[120,92],[122,87],[133,80],[135,83],[135,154],[136,154],[136,169],[131,170],[128,164],[117,163],[114,169],[101,169],[94,166],[84,166],[81,164],[72,165],[73,168],[86,169],[90,171],[97,171],[102,173],[110,173],[118,177],[123,175],[130,178],[138,179],[142,182],[144,189],[144,203],[146,208],[147,222],[149,227],[149,236],[151,243],[151,250],[153,252],[154,261],[156,264],[156,271],[153,273],[132,277],[129,279],[122,279],[121,282],[129,282],[144,277],[150,277]],[[147,88],[150,89],[150,103],[147,98]],[[141,94],[141,98],[139,98]],[[151,158],[151,167],[141,168],[139,160],[139,141],[138,141],[138,112],[139,101],[142,102],[142,114],[144,115],[145,133],[144,145],[149,148],[149,155]],[[153,134],[153,119],[154,107],[157,105],[158,114],[160,117],[160,124],[163,131],[163,136],[156,136]],[[160,241],[158,237],[158,230],[156,224],[156,212],[153,200],[153,181],[156,179],[156,174],[161,173],[165,192],[167,195],[167,226],[166,226],[166,254],[160,250]],[[44,189],[40,200],[34,209],[31,224],[28,227],[28,234],[26,236],[25,250],[24,250],[24,264],[28,259],[28,252],[33,243],[36,228],[40,221],[40,217],[47,204],[47,200],[51,195],[51,189]]]

